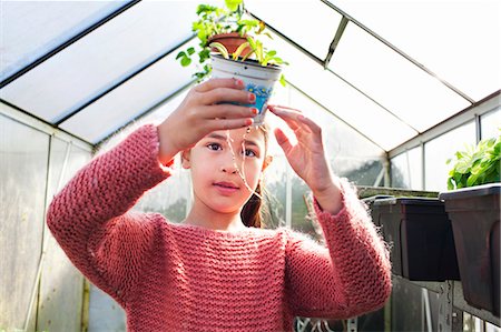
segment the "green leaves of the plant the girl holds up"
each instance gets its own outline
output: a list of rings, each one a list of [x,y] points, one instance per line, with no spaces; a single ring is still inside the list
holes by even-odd
[[[237,32],[240,37],[245,37],[247,42],[245,46],[238,48],[233,54],[234,60],[246,60],[252,56],[257,62],[263,66],[268,63],[286,64],[281,58],[276,57],[276,51],[266,51],[263,42],[256,39],[256,36],[266,36],[272,38],[266,31],[265,24],[262,21],[245,18],[245,9],[243,0],[225,0],[225,8],[219,8],[209,4],[199,4],[197,7],[198,20],[193,22],[191,30],[196,32],[199,40],[198,50],[194,47],[180,51],[176,59],[180,61],[183,67],[191,64],[194,58],[198,56],[198,62],[203,64],[202,71],[194,76],[199,80],[208,76],[212,71],[210,64],[205,63],[210,58],[210,50],[217,49],[223,57],[229,59],[228,51],[218,42],[210,42],[210,39],[220,33]],[[245,58],[239,58],[243,50],[250,47],[252,53]],[[235,56],[237,54],[237,56]],[[284,84],[285,79],[281,78]]]

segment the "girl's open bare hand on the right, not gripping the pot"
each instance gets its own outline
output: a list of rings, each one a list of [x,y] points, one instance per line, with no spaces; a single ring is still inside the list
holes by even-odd
[[[293,145],[279,128],[275,129],[275,138],[288,163],[313,191],[321,207],[337,213],[342,208],[341,192],[325,157],[322,129],[299,110],[281,105],[268,105],[268,109],[284,120],[297,138],[297,144]]]

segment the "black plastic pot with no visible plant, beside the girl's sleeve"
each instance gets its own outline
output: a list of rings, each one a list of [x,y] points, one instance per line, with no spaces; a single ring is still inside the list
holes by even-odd
[[[391,243],[392,272],[409,280],[459,280],[451,222],[443,202],[428,198],[376,199],[372,217]]]

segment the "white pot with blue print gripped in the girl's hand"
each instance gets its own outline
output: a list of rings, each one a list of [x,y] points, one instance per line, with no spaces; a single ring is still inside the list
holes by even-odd
[[[254,107],[258,114],[254,118],[254,124],[263,123],[266,115],[267,102],[272,95],[273,88],[279,79],[282,68],[269,64],[261,66],[255,60],[234,61],[223,58],[219,54],[210,54],[213,64],[213,78],[235,78],[244,81],[245,89],[256,95],[255,103],[242,104]]]

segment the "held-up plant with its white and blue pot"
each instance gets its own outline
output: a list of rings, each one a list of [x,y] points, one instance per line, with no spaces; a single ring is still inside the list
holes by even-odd
[[[203,70],[194,74],[198,80],[209,74],[242,79],[246,89],[256,95],[256,102],[246,105],[258,110],[254,123],[261,124],[275,82],[285,85],[282,64],[287,63],[258,39],[272,37],[263,22],[245,17],[243,0],[226,0],[225,4],[225,8],[198,6],[198,20],[193,23],[193,30],[197,32],[199,50],[189,48],[179,52],[177,59],[187,67],[198,54],[203,66]]]

